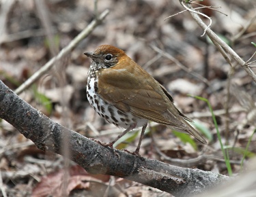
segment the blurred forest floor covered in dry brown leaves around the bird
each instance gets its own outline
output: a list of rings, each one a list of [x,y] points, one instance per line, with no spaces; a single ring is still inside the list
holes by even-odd
[[[199,9],[212,18],[210,29],[244,61],[253,56],[254,0],[194,3],[212,5],[214,10]],[[234,175],[240,173],[243,158],[246,169],[255,156],[256,84],[232,59],[229,65],[190,14],[182,12],[178,0],[98,0],[97,9],[92,0],[2,0],[0,9],[0,79],[12,90],[65,48],[96,15],[110,11],[70,54],[19,94],[55,122],[106,142],[122,132],[100,118],[86,97],[90,60],[83,53],[111,44],[165,86],[175,105],[208,141],[204,146],[192,137],[152,124],[143,139],[141,156],[170,164],[179,159],[175,160],[178,166],[185,166],[184,160],[200,158],[186,167],[229,175],[207,103],[188,94],[208,99],[212,105]],[[209,19],[201,18],[209,24]],[[138,139],[138,132],[130,132],[117,148],[134,151]],[[32,192],[33,196],[60,196],[63,190],[69,196],[104,196],[109,187],[112,196],[171,196],[118,177],[89,175],[62,156],[40,151],[5,120],[0,120],[0,171],[0,196],[31,196]],[[62,178],[67,172],[70,176],[65,182]]]

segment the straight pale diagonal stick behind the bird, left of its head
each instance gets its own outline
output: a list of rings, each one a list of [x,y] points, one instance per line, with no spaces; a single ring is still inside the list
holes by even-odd
[[[85,39],[85,37],[87,37],[96,28],[96,26],[98,26],[98,24],[100,24],[100,22],[104,20],[104,18],[108,14],[109,14],[109,10],[105,10],[104,12],[102,12],[102,14],[100,14],[98,20],[95,19],[91,21],[91,23],[87,26],[87,28],[84,29],[81,33],[79,33],[79,35],[77,35],[72,41],[70,41],[70,43],[68,44],[68,46],[66,46],[66,48],[63,48],[59,52],[59,54],[57,54],[57,56],[51,58],[51,60],[49,60],[41,69],[39,69],[31,77],[29,77],[29,79],[27,79],[26,82],[21,84],[21,86],[19,86],[15,90],[15,93],[20,94],[25,89],[29,88],[29,86],[31,86],[36,80],[38,80],[42,75],[44,75],[44,73],[49,71],[55,65],[56,61],[61,60],[63,56],[66,56],[68,53],[74,50],[74,48],[81,42],[81,40]]]

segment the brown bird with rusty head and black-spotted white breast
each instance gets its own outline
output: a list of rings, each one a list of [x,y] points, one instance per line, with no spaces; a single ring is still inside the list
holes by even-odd
[[[113,144],[134,128],[141,129],[137,148],[149,121],[164,124],[173,130],[187,132],[203,144],[207,141],[188,122],[193,122],[173,104],[169,92],[126,53],[111,45],[101,45],[94,52],[85,52],[91,58],[87,75],[87,99],[91,107],[107,122],[125,128]],[[188,122],[187,122],[188,121]]]

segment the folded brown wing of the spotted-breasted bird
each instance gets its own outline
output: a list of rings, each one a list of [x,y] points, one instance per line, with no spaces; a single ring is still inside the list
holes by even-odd
[[[165,96],[166,90],[141,67],[117,65],[101,69],[98,74],[98,93],[117,109],[161,124],[183,125],[180,122],[182,113],[173,105],[171,95]]]

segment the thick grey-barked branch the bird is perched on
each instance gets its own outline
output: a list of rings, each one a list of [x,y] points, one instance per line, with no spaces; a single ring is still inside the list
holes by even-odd
[[[20,99],[0,80],[0,118],[19,130],[43,151],[63,155],[69,145],[70,159],[93,174],[105,174],[137,181],[175,196],[190,196],[229,177],[195,168],[171,166],[110,149],[53,122],[40,111]],[[63,143],[63,139],[69,139]],[[117,156],[118,154],[118,156]]]

